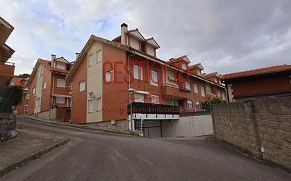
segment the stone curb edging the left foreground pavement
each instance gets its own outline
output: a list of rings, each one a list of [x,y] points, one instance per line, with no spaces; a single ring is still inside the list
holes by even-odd
[[[29,161],[33,161],[37,158],[40,158],[40,156],[42,156],[43,154],[46,154],[47,152],[52,151],[53,149],[56,149],[57,147],[66,144],[69,141],[70,141],[69,138],[63,139],[55,144],[52,144],[51,146],[47,146],[46,148],[38,151],[35,154],[32,154],[26,158],[23,158],[20,161],[17,161],[16,163],[12,163],[10,166],[6,166],[5,168],[0,170],[0,177],[3,177],[4,175],[10,173],[12,170],[15,170],[16,168],[25,165],[25,163],[28,163]]]

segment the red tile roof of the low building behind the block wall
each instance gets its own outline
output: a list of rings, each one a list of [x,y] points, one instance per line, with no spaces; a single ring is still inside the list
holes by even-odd
[[[283,72],[291,70],[291,65],[276,65],[272,67],[266,67],[266,68],[258,68],[254,70],[247,70],[239,73],[228,73],[224,74],[221,76],[222,80],[229,80],[233,78],[238,78],[238,77],[249,77],[253,75],[263,75],[263,74],[268,74],[268,73],[278,73],[278,72]]]

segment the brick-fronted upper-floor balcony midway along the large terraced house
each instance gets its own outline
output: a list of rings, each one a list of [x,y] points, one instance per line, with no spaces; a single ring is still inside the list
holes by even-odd
[[[161,92],[163,96],[172,96],[176,99],[189,99],[191,97],[189,94],[191,91],[189,89],[174,85],[163,84],[161,87]]]

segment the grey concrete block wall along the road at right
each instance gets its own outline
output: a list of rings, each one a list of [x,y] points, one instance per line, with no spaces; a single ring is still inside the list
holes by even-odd
[[[291,96],[211,106],[216,139],[291,169]]]

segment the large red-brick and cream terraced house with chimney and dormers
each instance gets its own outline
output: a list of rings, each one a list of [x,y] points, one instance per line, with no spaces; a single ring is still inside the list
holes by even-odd
[[[113,40],[91,35],[66,77],[72,85],[73,123],[134,130],[136,121],[177,120],[180,108],[198,111],[207,99],[225,99],[217,73],[203,75],[201,63],[189,65],[186,55],[163,61],[159,48],[153,37],[124,23]]]

